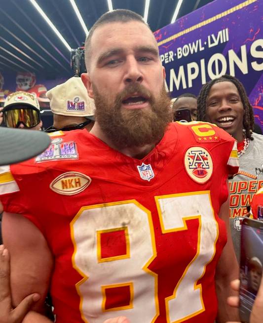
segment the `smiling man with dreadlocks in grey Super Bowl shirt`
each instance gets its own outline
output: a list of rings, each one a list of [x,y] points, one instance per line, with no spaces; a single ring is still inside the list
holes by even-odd
[[[206,83],[197,100],[197,120],[209,121],[237,141],[239,172],[229,179],[230,226],[237,258],[240,257],[242,217],[253,195],[263,185],[263,136],[253,133],[253,107],[243,85],[230,75]]]

